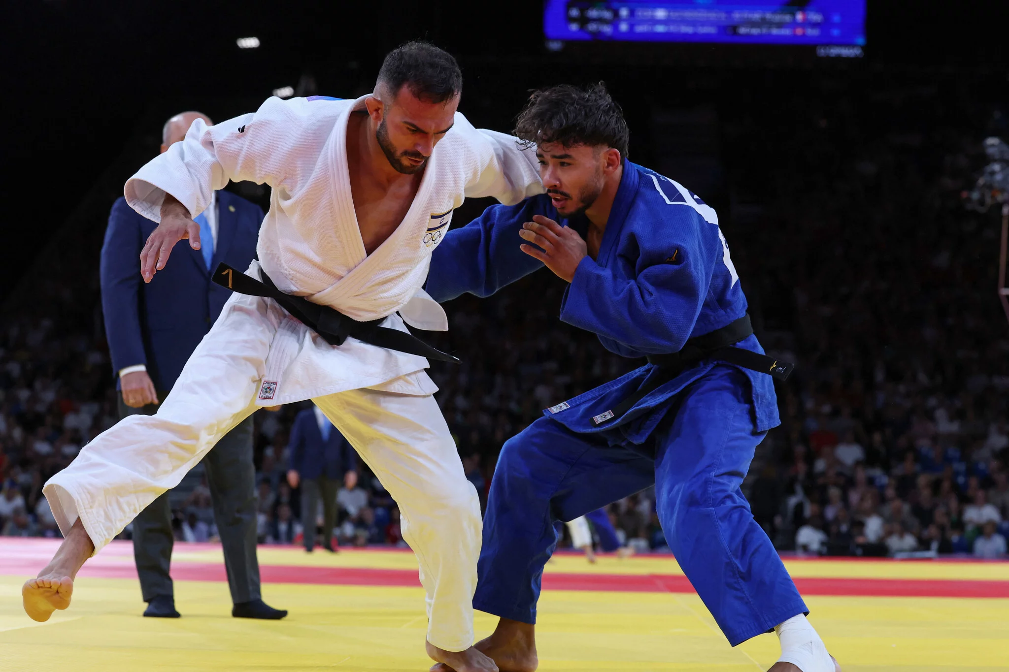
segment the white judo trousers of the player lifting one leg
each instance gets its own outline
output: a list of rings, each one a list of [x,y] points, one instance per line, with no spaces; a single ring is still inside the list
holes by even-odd
[[[233,296],[157,413],[124,418],[46,483],[43,493],[64,534],[80,517],[97,552],[258,408],[281,313],[282,322],[293,319],[270,299]],[[313,401],[400,507],[403,538],[417,555],[427,592],[428,641],[447,651],[467,649],[482,521],[434,397],[352,389]]]

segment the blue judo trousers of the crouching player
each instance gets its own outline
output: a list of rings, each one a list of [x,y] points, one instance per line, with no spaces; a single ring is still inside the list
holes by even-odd
[[[509,439],[490,486],[473,607],[535,624],[554,525],[654,483],[669,548],[733,646],[807,614],[740,490],[766,434],[754,430],[752,408],[746,377],[716,366],[634,449],[550,417]]]

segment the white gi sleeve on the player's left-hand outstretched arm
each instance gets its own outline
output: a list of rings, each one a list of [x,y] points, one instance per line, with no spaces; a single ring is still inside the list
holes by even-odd
[[[185,139],[148,161],[124,188],[130,208],[148,220],[161,221],[164,193],[171,193],[196,217],[210,205],[216,189],[229,180],[265,182],[282,192],[293,190],[299,154],[313,145],[307,128],[314,120],[296,101],[269,98],[250,114],[207,126],[197,119]]]

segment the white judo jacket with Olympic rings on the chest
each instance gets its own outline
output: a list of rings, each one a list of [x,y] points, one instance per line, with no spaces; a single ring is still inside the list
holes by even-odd
[[[462,114],[435,145],[414,203],[399,228],[370,255],[364,250],[347,164],[347,122],[364,99],[267,99],[254,113],[207,126],[155,157],[125,186],[126,201],[160,222],[169,192],[192,217],[228,180],[272,187],[256,247],[259,267],[281,291],[383,326],[447,329],[441,306],[421,287],[431,253],[465,196],[512,205],[543,192],[535,152],[512,136],[477,130]],[[181,243],[182,244],[182,243]],[[169,263],[174,263],[170,258]],[[396,314],[399,311],[400,314]],[[401,319],[401,315],[403,319]],[[406,394],[437,391],[427,360],[347,339],[333,347],[294,317],[270,343],[256,403],[287,404],[358,388]],[[408,374],[419,375],[408,376]]]

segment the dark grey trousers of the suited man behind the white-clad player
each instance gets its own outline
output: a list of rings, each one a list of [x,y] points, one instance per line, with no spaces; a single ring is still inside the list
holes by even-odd
[[[167,393],[158,393],[163,400]],[[119,417],[153,415],[157,406],[130,408],[119,395]],[[224,547],[224,565],[232,601],[259,599],[256,545],[255,466],[252,464],[252,416],[217,442],[203,458],[214,504],[214,522]],[[162,494],[133,519],[133,557],[144,601],[172,595],[172,506]]]

